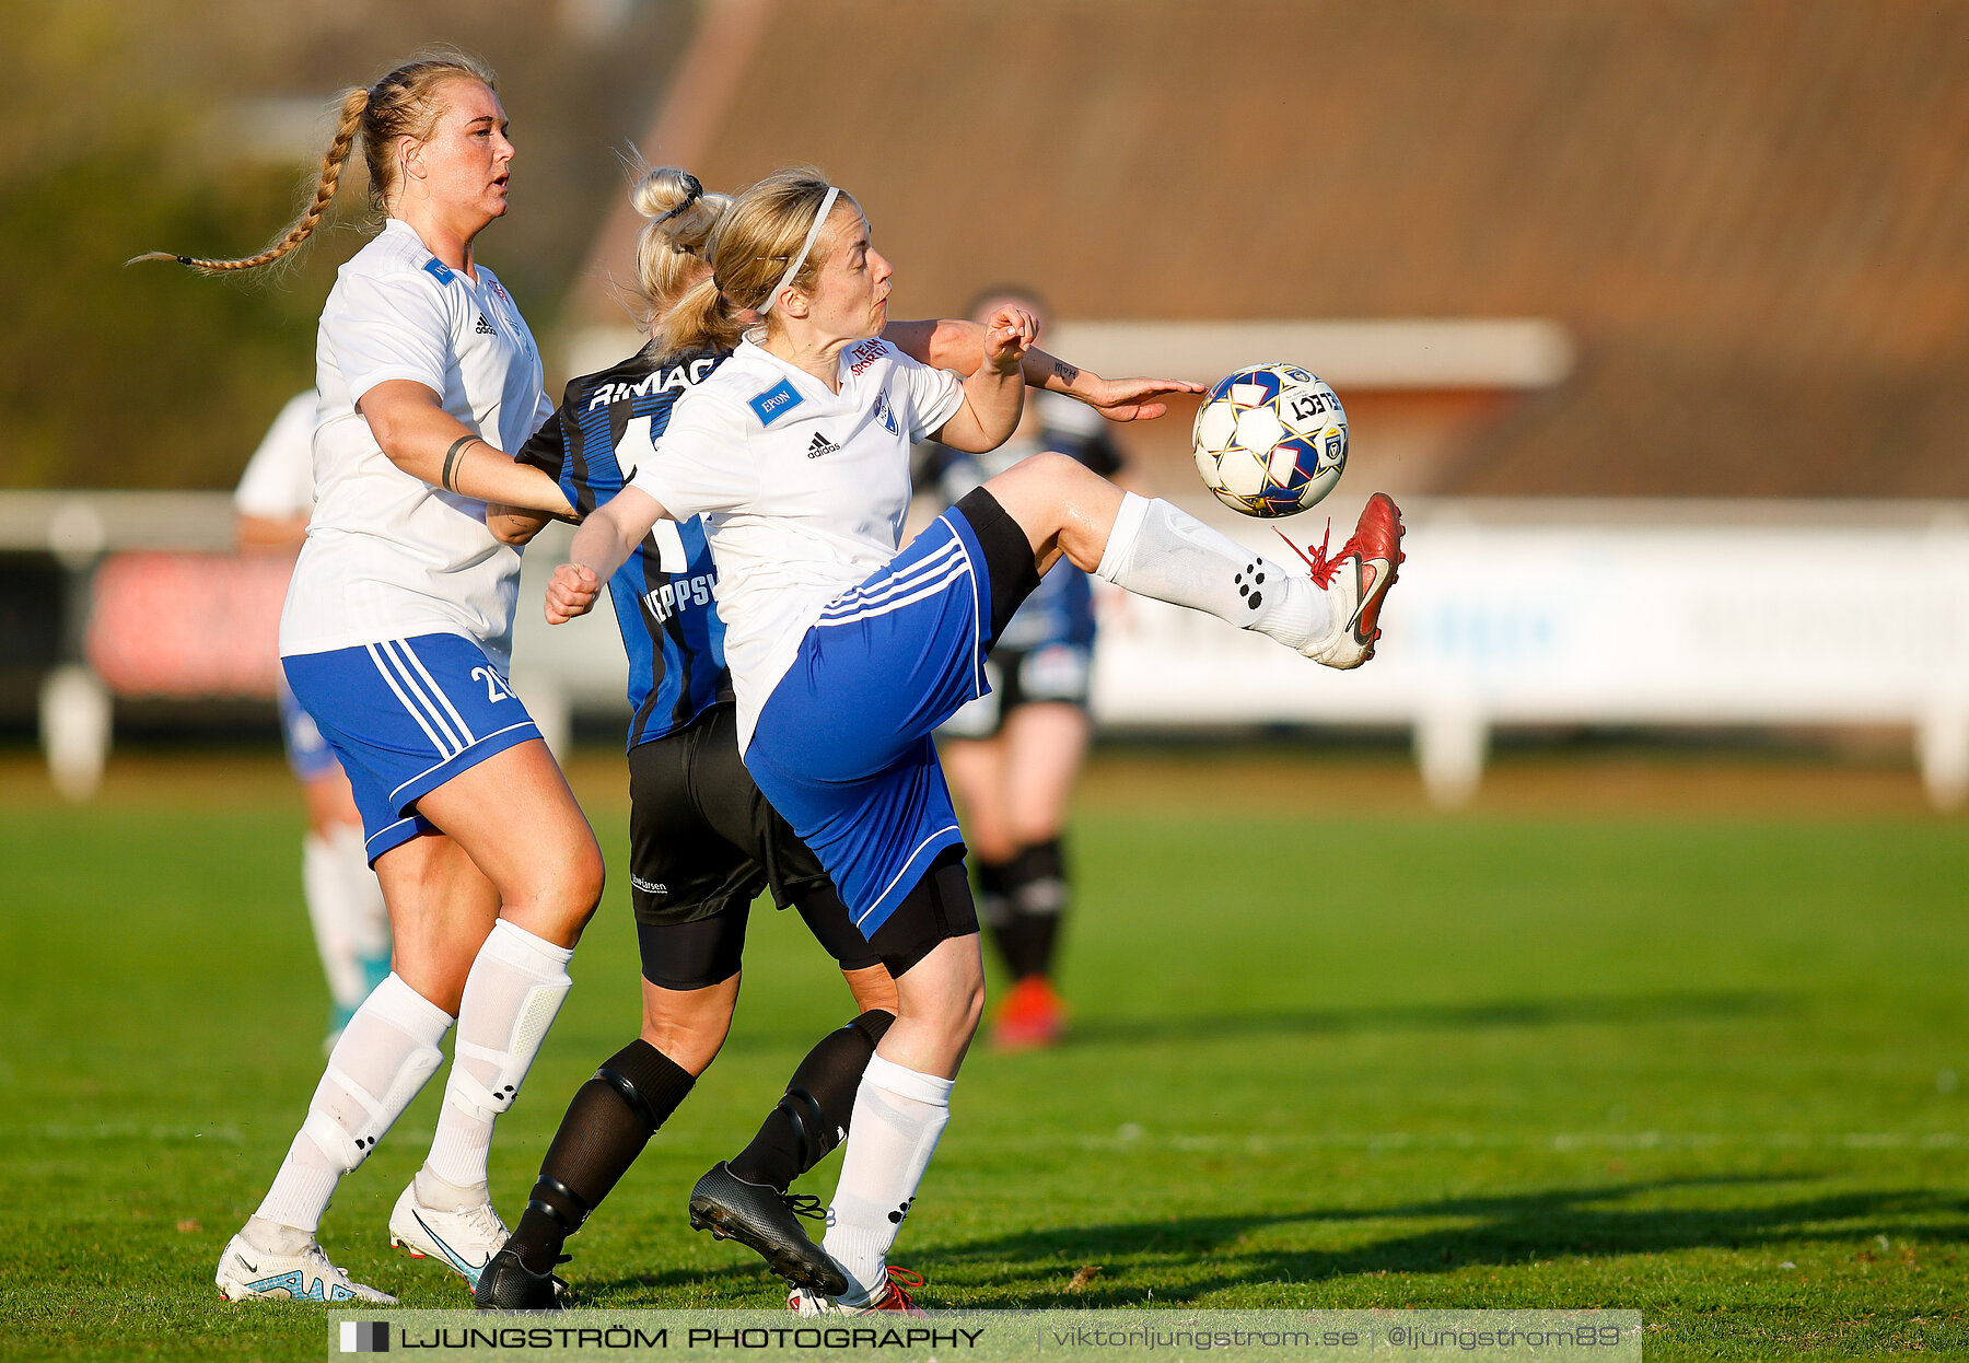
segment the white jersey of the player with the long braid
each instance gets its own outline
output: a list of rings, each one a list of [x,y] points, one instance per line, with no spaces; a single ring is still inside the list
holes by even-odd
[[[463,634],[506,668],[520,553],[486,504],[390,463],[356,402],[410,378],[490,445],[514,453],[553,414],[540,347],[498,278],[445,266],[390,219],[341,268],[315,343],[315,518],[280,617],[280,652]]]

